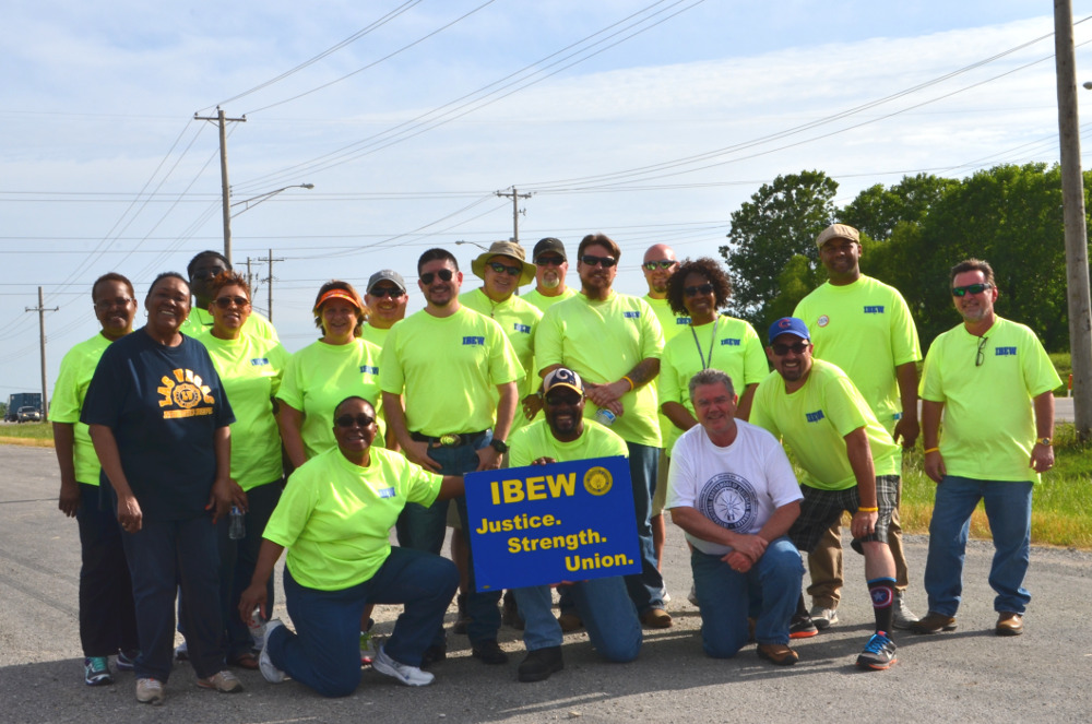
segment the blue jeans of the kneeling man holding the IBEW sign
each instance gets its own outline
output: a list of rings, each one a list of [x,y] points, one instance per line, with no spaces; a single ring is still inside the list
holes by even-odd
[[[587,629],[587,638],[607,661],[628,662],[641,651],[641,622],[621,577],[591,579],[563,586]],[[515,589],[523,617],[523,644],[527,651],[561,645],[561,626],[550,606],[548,585]]]

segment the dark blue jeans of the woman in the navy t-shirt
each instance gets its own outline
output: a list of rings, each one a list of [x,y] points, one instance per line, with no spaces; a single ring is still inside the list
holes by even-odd
[[[216,526],[201,515],[183,521],[144,519],[121,542],[129,560],[136,606],[140,656],[136,677],[166,681],[175,648],[175,594],[186,600],[182,624],[198,678],[224,669]]]

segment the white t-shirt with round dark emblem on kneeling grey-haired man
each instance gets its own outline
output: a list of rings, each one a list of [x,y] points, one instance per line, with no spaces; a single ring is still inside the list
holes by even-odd
[[[804,496],[781,443],[749,423],[737,419],[736,428],[727,448],[713,444],[701,425],[679,437],[672,451],[666,508],[693,508],[722,527],[753,535],[773,511]],[[686,538],[704,554],[732,551],[689,533]]]

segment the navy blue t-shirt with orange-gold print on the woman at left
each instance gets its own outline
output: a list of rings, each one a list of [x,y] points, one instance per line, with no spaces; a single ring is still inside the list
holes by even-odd
[[[235,422],[209,352],[182,336],[167,347],[143,329],[103,353],[80,420],[114,431],[124,471],[149,520],[206,514],[216,476],[216,428]],[[106,472],[102,484],[109,485]]]

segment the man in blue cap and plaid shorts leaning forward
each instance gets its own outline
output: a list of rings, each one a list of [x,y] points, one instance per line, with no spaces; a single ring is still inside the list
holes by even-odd
[[[768,340],[774,371],[755,392],[750,422],[781,438],[804,470],[804,502],[788,537],[810,554],[843,511],[853,515],[852,545],[865,556],[876,617],[876,633],[857,656],[857,666],[890,668],[898,658],[891,640],[894,560],[887,536],[899,503],[899,446],[845,372],[811,357],[811,335],[802,320],[779,319]],[[817,632],[802,594],[790,636]]]

